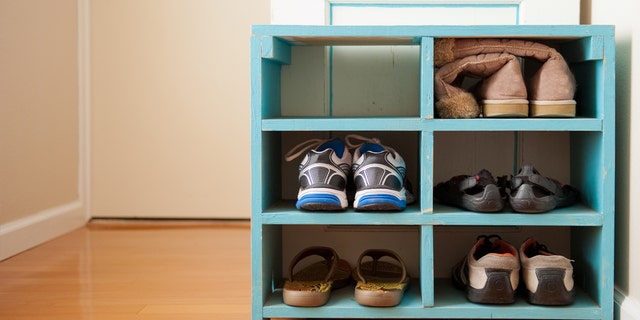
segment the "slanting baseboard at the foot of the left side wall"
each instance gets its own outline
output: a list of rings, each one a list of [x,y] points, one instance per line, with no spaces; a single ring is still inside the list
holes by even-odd
[[[77,229],[87,223],[81,201],[43,210],[0,224],[0,261]]]

